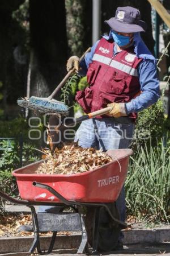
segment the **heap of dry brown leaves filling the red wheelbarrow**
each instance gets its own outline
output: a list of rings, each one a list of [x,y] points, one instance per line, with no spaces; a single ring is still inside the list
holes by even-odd
[[[44,162],[37,169],[37,174],[77,174],[94,170],[113,160],[104,152],[82,148],[77,144],[56,148],[53,153],[49,149],[43,152]]]

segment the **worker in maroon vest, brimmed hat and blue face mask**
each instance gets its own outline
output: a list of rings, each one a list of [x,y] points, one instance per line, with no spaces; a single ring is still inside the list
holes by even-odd
[[[115,17],[105,23],[110,27],[109,35],[102,36],[82,61],[77,56],[67,61],[67,71],[75,67],[80,75],[87,75],[90,86],[75,97],[84,112],[111,107],[107,115],[83,121],[75,134],[79,146],[103,151],[128,148],[137,113],[159,98],[156,60],[140,36],[146,30],[140,11],[118,7]],[[125,221],[124,188],[116,204]],[[121,238],[119,245],[122,248]]]

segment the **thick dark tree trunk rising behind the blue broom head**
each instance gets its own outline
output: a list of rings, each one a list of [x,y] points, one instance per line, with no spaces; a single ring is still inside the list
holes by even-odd
[[[66,73],[65,1],[29,0],[29,20],[34,52],[31,94],[46,97]]]

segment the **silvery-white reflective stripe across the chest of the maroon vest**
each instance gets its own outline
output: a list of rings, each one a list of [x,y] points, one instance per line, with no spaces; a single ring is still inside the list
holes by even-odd
[[[105,57],[103,55],[99,55],[99,54],[95,53],[92,60],[96,60],[96,61],[99,61],[99,62],[104,63],[106,65],[109,65],[112,68],[116,68],[118,70],[121,70],[122,72],[125,72],[125,73],[127,73],[131,76],[138,76],[137,69],[131,68],[128,65],[120,63],[119,61],[112,60],[109,57]]]

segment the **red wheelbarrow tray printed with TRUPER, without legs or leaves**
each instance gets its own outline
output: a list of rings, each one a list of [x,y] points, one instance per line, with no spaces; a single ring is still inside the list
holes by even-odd
[[[59,199],[44,188],[34,187],[33,181],[49,185],[70,201],[109,203],[117,200],[124,184],[130,149],[108,150],[112,162],[92,171],[72,175],[36,174],[42,160],[12,172],[16,177],[20,197],[28,201],[59,203]]]

